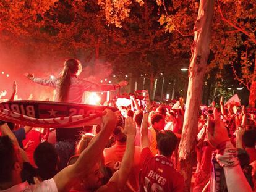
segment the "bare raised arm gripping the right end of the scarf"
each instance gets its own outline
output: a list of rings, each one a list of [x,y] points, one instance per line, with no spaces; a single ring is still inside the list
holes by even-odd
[[[58,191],[65,191],[70,182],[74,182],[76,178],[90,172],[93,165],[100,161],[103,149],[117,123],[117,118],[113,111],[105,109],[105,112],[106,115],[103,116],[103,127],[100,133],[92,140],[92,144],[80,154],[79,159],[77,159],[74,165],[67,166],[54,176]]]

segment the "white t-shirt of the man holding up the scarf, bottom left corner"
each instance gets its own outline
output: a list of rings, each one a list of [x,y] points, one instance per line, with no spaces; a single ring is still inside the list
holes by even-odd
[[[35,185],[29,185],[28,182],[19,183],[7,190],[0,190],[0,192],[58,192],[56,183],[53,178],[45,180]]]

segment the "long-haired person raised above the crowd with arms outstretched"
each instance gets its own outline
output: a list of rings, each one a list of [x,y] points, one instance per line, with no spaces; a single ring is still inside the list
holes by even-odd
[[[31,73],[25,76],[34,83],[51,86],[56,89],[56,101],[82,103],[83,92],[85,91],[113,91],[127,85],[126,81],[121,81],[116,85],[104,85],[92,83],[78,78],[82,71],[82,65],[77,59],[67,59],[59,78],[43,79],[36,78]],[[56,150],[61,157],[60,169],[67,165],[69,157],[74,153],[75,140],[79,138],[81,128],[56,128]]]

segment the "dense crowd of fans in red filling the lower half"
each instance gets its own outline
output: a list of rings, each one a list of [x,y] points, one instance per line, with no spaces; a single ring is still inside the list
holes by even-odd
[[[129,97],[119,111],[105,109],[100,125],[72,132],[1,120],[0,191],[184,191],[183,99]],[[222,98],[216,106],[198,115],[192,190],[256,191],[255,115]]]

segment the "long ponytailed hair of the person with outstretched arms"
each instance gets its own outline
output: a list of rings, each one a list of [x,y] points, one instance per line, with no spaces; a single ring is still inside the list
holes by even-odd
[[[59,80],[59,102],[67,102],[69,94],[70,77],[76,75],[79,71],[79,61],[77,59],[68,59],[64,64],[62,75]]]

